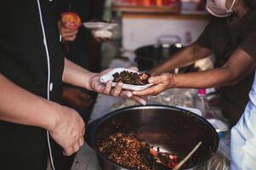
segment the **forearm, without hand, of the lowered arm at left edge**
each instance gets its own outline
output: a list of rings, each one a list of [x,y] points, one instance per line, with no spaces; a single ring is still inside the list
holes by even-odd
[[[58,105],[29,93],[0,74],[0,119],[51,129],[58,119]]]

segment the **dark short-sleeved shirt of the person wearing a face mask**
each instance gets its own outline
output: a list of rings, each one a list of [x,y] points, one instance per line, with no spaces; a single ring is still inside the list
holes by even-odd
[[[230,21],[232,17],[213,18],[197,40],[202,47],[213,50],[216,67],[224,65],[236,48],[256,59],[256,11],[249,11],[234,22]],[[221,88],[224,114],[232,123],[242,115],[252,84],[253,73],[235,86]]]

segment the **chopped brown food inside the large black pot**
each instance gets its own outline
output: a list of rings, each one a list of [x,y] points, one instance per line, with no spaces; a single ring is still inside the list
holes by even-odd
[[[115,133],[98,146],[103,156],[129,169],[169,170],[181,161],[177,156],[154,150],[134,133]]]

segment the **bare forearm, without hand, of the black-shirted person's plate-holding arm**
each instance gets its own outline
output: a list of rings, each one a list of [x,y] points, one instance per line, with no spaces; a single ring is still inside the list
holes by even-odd
[[[69,83],[77,87],[92,90],[88,80],[94,76],[94,72],[90,72],[86,69],[83,69],[81,66],[76,65],[68,59],[65,59],[63,82]]]

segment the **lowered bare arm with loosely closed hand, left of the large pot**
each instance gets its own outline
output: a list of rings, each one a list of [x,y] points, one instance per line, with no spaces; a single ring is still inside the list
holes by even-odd
[[[84,122],[76,111],[31,94],[0,74],[0,120],[47,129],[66,155],[83,144]]]

